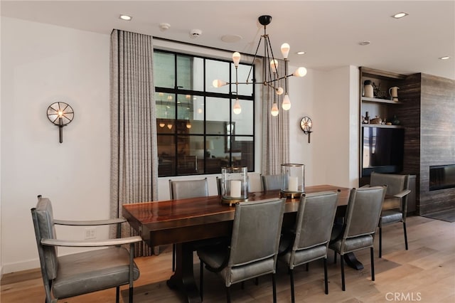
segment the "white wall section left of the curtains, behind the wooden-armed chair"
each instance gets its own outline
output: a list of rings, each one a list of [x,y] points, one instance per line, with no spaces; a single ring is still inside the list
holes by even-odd
[[[109,36],[1,18],[1,48],[6,273],[38,267],[30,212],[38,194],[53,201],[55,217],[109,218]],[[63,129],[63,144],[45,115],[56,101],[75,111]],[[83,236],[83,230],[57,232]]]

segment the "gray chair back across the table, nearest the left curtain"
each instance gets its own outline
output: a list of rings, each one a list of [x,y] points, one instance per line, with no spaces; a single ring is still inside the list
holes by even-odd
[[[171,200],[208,196],[207,178],[199,180],[169,180]]]

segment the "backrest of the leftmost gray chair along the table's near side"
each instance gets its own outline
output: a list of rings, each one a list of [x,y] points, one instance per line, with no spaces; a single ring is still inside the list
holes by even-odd
[[[277,260],[285,198],[235,205],[229,267],[274,257]]]

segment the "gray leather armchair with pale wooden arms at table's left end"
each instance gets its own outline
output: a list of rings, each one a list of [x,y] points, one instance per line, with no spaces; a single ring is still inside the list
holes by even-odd
[[[45,302],[75,297],[116,287],[116,302],[119,302],[119,287],[129,285],[129,302],[133,302],[133,281],[139,278],[139,269],[134,263],[134,243],[141,237],[115,238],[108,240],[62,240],[55,234],[55,225],[109,225],[117,228],[125,219],[96,221],[55,220],[48,198],[38,196],[36,208],[31,209],[35,228],[36,244],[45,288]],[[117,230],[119,237],[120,230]],[[129,251],[120,245],[129,244]],[[99,248],[87,252],[58,256],[57,248]]]

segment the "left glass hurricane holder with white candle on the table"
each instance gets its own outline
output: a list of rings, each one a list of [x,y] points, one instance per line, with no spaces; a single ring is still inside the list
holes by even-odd
[[[221,168],[221,201],[235,204],[247,201],[247,168],[232,166]]]

